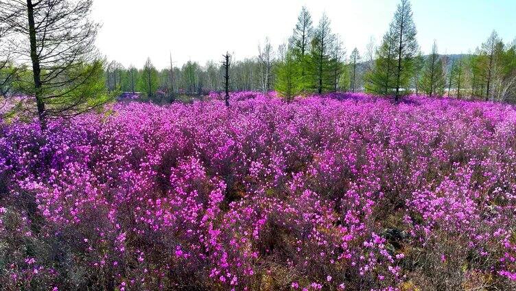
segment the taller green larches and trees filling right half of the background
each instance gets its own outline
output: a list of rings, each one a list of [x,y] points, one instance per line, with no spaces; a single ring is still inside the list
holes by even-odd
[[[516,99],[516,40],[504,43],[493,33],[469,54],[443,56],[436,43],[423,56],[410,1],[401,0],[379,45],[361,56],[355,47],[344,58],[342,41],[322,16],[318,27],[301,10],[287,49],[277,60],[275,88],[288,99],[303,93],[364,91],[388,95],[447,95],[507,101]]]

